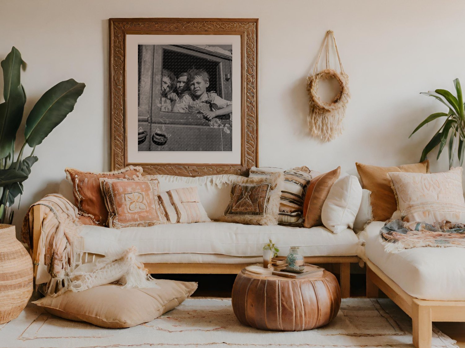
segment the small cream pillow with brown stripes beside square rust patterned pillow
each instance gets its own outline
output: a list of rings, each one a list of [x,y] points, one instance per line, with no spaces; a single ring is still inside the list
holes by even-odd
[[[159,200],[172,224],[212,221],[200,203],[197,187],[183,187],[159,194]]]

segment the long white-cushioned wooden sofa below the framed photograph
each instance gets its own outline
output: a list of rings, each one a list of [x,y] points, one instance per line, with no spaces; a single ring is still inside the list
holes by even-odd
[[[159,180],[160,192],[197,187],[202,206],[210,219],[222,215],[230,200],[232,184],[215,184],[208,176],[155,177]],[[60,184],[60,193],[73,201],[72,187],[67,181]],[[30,213],[33,216],[30,224],[34,264],[39,261],[36,250],[47,209],[49,207],[45,205],[35,205]],[[79,226],[79,234],[86,260],[136,246],[139,261],[155,274],[239,273],[246,265],[262,262],[262,246],[271,238],[279,245],[279,255],[287,255],[289,247],[298,245],[307,263],[339,264],[342,297],[349,297],[350,263],[359,262],[357,235],[351,229],[332,233],[324,226],[299,228],[199,222],[111,229],[82,225]]]

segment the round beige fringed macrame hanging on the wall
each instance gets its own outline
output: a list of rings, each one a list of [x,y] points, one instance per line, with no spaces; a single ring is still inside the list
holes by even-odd
[[[340,72],[330,68],[329,57],[329,42],[332,40],[336,54],[338,55]],[[326,69],[317,73],[318,62],[326,45]],[[318,96],[318,84],[334,78],[339,83],[339,93],[332,100],[331,103],[326,103]],[[308,125],[312,135],[320,138],[323,142],[330,142],[337,136],[342,134],[343,126],[342,120],[345,116],[345,107],[349,101],[349,77],[344,72],[342,67],[341,58],[339,56],[338,45],[336,45],[336,38],[334,32],[328,30],[325,39],[321,45],[317,62],[310,71],[307,77],[307,91],[310,97],[309,110],[308,110]]]

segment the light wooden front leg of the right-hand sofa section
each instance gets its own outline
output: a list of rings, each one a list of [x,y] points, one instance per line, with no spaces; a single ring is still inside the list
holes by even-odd
[[[417,348],[431,348],[431,309],[412,301],[413,345]]]

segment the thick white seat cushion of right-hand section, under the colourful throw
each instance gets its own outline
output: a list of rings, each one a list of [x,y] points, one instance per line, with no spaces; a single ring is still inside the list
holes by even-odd
[[[360,240],[365,241],[360,257],[377,265],[410,296],[422,300],[465,300],[464,248],[422,247],[386,252],[379,237],[383,226],[384,222],[373,221],[360,233]]]

